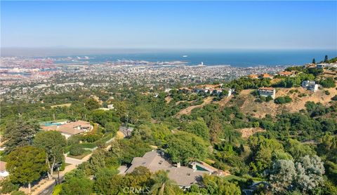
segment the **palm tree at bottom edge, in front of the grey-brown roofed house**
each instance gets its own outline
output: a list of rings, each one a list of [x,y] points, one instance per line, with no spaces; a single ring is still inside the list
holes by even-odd
[[[150,189],[150,194],[164,195],[176,194],[174,181],[170,180],[168,174],[164,170],[159,170],[152,176],[154,184]]]

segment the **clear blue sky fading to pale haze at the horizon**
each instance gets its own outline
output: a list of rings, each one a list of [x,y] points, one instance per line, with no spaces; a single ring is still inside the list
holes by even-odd
[[[337,1],[1,1],[1,47],[337,49]]]

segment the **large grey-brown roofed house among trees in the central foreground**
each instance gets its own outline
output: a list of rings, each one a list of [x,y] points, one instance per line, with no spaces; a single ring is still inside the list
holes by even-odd
[[[192,163],[192,168],[180,166],[180,163],[173,166],[168,161],[164,152],[154,150],[145,153],[143,157],[133,158],[131,166],[122,174],[132,173],[138,166],[144,166],[150,169],[152,173],[158,170],[165,170],[169,178],[183,189],[189,188],[192,184],[199,183],[204,174],[211,175],[211,173],[218,173],[216,168],[210,168],[204,163],[194,162]]]

